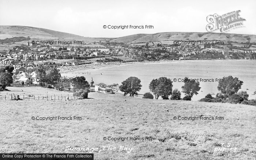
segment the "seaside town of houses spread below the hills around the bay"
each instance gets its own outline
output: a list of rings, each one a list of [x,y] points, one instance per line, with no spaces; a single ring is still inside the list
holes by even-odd
[[[19,37],[13,39],[26,39],[27,43],[13,46],[10,49],[0,50],[0,66],[13,66],[13,85],[39,85],[42,81],[37,79],[35,69],[39,65],[55,67],[61,72],[75,67],[95,68],[99,65],[112,65],[121,63],[136,63],[143,61],[164,60],[224,60],[224,59],[255,59],[256,44],[222,42],[221,45],[178,45],[161,44],[161,42],[148,42],[139,44],[125,44],[117,42],[82,42],[67,41],[61,44],[74,42],[82,45],[43,45],[47,41],[31,42],[31,38]],[[10,41],[10,39],[8,39]],[[50,42],[50,41],[48,41]],[[54,42],[54,41],[53,41]],[[207,42],[207,41],[206,41]],[[209,41],[210,42],[210,41]],[[4,40],[1,42],[5,44]],[[59,41],[58,41],[59,43]],[[39,44],[39,45],[38,45]],[[54,45],[55,44],[55,45]],[[58,77],[52,88],[72,89],[70,79],[74,77]],[[95,91],[112,93],[113,88],[100,83],[92,85]],[[112,86],[113,87],[113,86]]]

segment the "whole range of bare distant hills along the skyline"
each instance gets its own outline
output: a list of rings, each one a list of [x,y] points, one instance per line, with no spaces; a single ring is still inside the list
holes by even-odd
[[[251,38],[251,42],[256,42],[256,35],[247,34],[228,34],[228,33],[190,33],[190,32],[166,32],[155,34],[134,34],[119,38],[90,38],[80,35],[64,33],[59,31],[48,30],[44,28],[27,27],[27,26],[0,26],[0,39],[12,37],[30,37],[38,39],[67,39],[79,40],[85,42],[99,42],[110,40],[110,42],[118,43],[147,43],[157,42],[162,44],[173,44],[174,40],[182,41],[200,41],[200,40],[222,40],[233,42],[248,42],[247,37]]]

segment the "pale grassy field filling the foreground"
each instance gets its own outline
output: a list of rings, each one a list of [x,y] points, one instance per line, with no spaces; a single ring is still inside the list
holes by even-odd
[[[89,98],[1,100],[0,153],[89,153],[65,151],[70,146],[99,148],[93,152],[97,160],[255,159],[255,106],[149,100],[95,92]],[[32,120],[33,116],[80,116],[82,120],[40,121]],[[182,121],[174,120],[174,116],[222,116],[224,120]],[[111,141],[103,137],[154,140]],[[116,150],[104,151],[103,146]],[[119,152],[120,146],[130,148],[131,152]],[[218,148],[228,151],[216,151]],[[231,148],[236,151],[230,151]]]

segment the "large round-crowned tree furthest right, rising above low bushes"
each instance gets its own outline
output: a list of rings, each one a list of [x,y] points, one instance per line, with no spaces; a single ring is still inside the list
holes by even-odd
[[[243,84],[243,81],[238,80],[237,77],[223,77],[223,81],[219,82],[218,90],[221,91],[222,94],[233,95],[237,93]]]

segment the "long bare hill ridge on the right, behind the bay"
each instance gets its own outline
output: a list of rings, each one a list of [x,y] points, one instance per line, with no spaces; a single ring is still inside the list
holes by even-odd
[[[256,42],[256,35],[247,34],[227,34],[227,33],[192,33],[192,32],[166,32],[155,34],[135,34],[125,37],[112,39],[110,42],[124,42],[124,43],[147,43],[147,42],[161,42],[173,40],[181,41],[202,41],[202,40],[222,40],[233,42],[247,42],[246,37],[251,38],[251,42]]]

